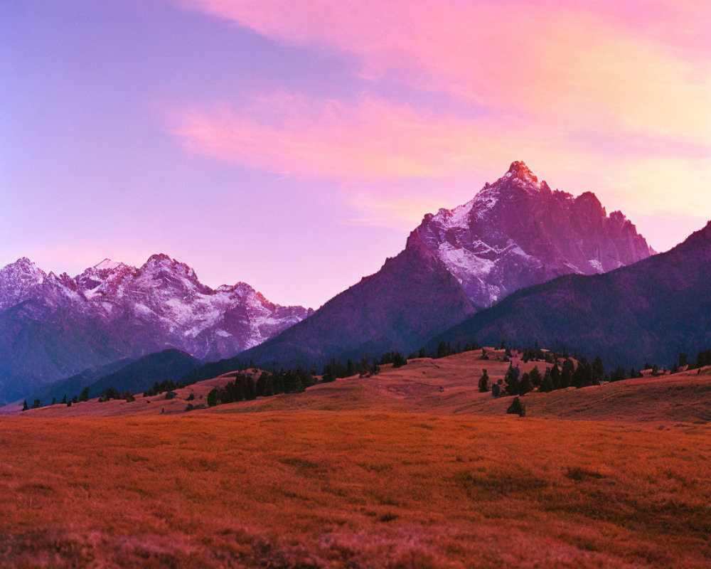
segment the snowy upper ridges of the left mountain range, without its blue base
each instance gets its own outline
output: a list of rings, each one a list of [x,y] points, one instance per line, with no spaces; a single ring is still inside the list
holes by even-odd
[[[28,299],[26,312],[37,319],[70,310],[100,322],[107,343],[129,356],[165,346],[198,358],[234,356],[311,314],[269,302],[244,282],[210,289],[164,254],[141,267],[107,258],[73,278],[47,275],[23,257],[0,270],[0,311]]]

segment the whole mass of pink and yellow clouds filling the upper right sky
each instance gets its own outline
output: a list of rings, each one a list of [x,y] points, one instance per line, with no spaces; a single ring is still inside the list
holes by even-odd
[[[431,193],[491,179],[513,159],[633,217],[711,211],[707,1],[176,1],[280,43],[354,57],[373,85],[394,79],[400,100],[444,92],[486,110],[471,119],[280,91],[173,117],[189,151],[348,188],[353,223],[404,227],[434,201],[394,184],[429,179]],[[692,198],[670,203],[673,188]]]

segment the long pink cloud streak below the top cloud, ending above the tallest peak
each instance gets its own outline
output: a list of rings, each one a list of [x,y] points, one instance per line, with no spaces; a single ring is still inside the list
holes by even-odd
[[[347,104],[280,91],[233,110],[188,110],[173,117],[188,151],[297,176],[341,181],[439,178],[550,149],[555,138],[499,119],[464,121],[362,97]],[[560,140],[557,141],[560,144]],[[506,159],[504,159],[506,160]]]

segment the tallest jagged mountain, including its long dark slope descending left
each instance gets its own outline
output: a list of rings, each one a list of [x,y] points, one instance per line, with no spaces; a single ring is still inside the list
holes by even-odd
[[[523,287],[653,255],[632,223],[594,194],[551,191],[523,162],[454,210],[428,214],[405,250],[313,316],[240,354],[310,366],[332,357],[410,352]]]

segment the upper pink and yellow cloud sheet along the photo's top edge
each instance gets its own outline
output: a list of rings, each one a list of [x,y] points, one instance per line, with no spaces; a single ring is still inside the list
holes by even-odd
[[[707,144],[707,4],[668,0],[183,0],[264,36],[358,56],[493,110]],[[594,8],[591,8],[594,4]]]

